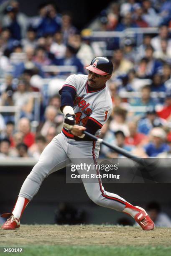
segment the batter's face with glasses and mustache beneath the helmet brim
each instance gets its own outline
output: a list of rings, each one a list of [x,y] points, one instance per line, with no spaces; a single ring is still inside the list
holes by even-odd
[[[107,74],[105,76],[95,74],[92,71],[88,70],[88,84],[92,88],[101,88],[105,85],[107,80],[109,80],[111,77],[110,74]]]

